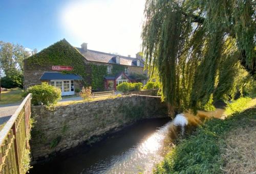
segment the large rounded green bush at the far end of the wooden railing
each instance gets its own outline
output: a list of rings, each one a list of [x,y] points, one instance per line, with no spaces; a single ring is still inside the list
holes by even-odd
[[[43,82],[40,85],[31,86],[24,92],[23,96],[32,93],[33,105],[54,105],[61,98],[61,90]]]

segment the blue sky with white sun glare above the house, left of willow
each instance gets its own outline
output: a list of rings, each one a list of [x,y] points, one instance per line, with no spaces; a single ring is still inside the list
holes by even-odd
[[[38,51],[71,45],[123,56],[141,51],[145,0],[1,0],[0,40]]]

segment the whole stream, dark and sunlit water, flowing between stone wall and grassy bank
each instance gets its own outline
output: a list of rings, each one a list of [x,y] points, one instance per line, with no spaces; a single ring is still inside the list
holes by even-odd
[[[51,161],[34,165],[29,173],[152,173],[175,139],[190,134],[222,109],[178,114],[170,118],[147,119],[104,137],[97,143],[80,145]]]

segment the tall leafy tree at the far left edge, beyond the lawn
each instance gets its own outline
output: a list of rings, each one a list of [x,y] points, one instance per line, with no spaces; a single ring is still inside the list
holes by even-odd
[[[0,41],[0,76],[5,76],[1,86],[23,87],[24,59],[29,56],[24,46]]]

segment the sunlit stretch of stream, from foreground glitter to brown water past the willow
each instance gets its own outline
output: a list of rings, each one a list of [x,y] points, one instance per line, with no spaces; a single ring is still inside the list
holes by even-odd
[[[196,116],[189,112],[177,114],[173,121],[144,137],[137,145],[121,155],[112,156],[111,160],[102,159],[85,173],[152,173],[155,165],[163,160],[178,137],[189,130],[193,131],[203,120],[220,117],[222,113],[223,110],[217,109],[211,112],[198,111]]]

